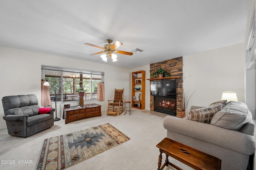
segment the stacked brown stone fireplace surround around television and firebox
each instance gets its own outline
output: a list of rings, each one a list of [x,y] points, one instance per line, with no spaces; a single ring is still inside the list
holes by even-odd
[[[175,114],[177,117],[182,117],[181,104],[182,104],[182,89],[183,89],[183,58],[178,57],[175,59],[170,59],[170,60],[150,64],[150,74],[155,72],[156,69],[158,68],[162,68],[166,72],[168,72],[170,74],[170,80],[176,80],[176,108],[175,108],[176,110],[173,110],[173,111],[170,110],[169,112],[171,113],[170,115]],[[174,76],[175,77],[178,76],[178,78],[171,78]],[[150,111],[156,111],[154,97],[155,96],[150,95]],[[156,109],[159,109],[159,108],[156,108]],[[164,108],[162,109],[165,111]],[[162,112],[162,110],[158,112]]]

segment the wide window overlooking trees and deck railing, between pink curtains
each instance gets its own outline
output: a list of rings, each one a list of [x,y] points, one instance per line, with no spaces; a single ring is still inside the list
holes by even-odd
[[[103,82],[104,72],[80,70],[74,68],[64,68],[41,65],[42,79],[50,83],[50,98],[68,102],[78,101],[79,96],[76,89],[83,87],[84,100],[97,99],[97,83]],[[56,99],[55,99],[56,92]]]

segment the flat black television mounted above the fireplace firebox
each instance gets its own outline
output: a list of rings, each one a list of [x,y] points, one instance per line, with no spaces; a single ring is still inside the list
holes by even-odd
[[[176,80],[150,81],[150,91],[153,96],[176,97]]]

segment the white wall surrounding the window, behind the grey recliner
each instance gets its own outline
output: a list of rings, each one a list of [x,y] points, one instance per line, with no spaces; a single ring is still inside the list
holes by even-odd
[[[99,58],[100,60],[100,58]],[[41,64],[51,66],[61,66],[68,68],[79,68],[84,70],[96,70],[105,72],[104,88],[105,101],[97,100],[85,102],[85,104],[96,103],[102,106],[102,111],[108,107],[108,100],[114,99],[114,88],[124,88],[124,100],[130,100],[130,69],[106,64],[92,63],[46,55],[31,51],[12,49],[0,46],[0,98],[11,95],[35,94],[41,105]],[[71,106],[78,105],[78,102],[68,102]],[[57,102],[57,117],[62,117],[62,107],[67,102]],[[55,104],[53,106],[55,108]],[[0,129],[6,128],[6,123],[2,117],[4,110],[0,105]]]

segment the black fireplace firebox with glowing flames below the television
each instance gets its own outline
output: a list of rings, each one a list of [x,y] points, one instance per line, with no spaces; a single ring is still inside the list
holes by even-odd
[[[176,116],[176,97],[154,96],[154,111]]]

